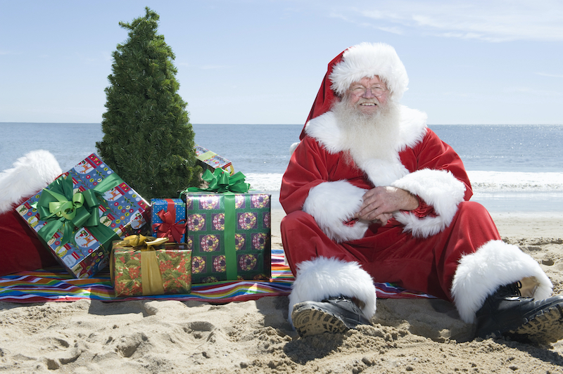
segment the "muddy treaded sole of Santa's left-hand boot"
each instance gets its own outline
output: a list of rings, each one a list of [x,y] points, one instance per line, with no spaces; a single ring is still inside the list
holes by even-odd
[[[322,333],[345,333],[350,330],[334,314],[306,304],[302,306],[296,304],[291,314],[291,319],[293,320],[293,326],[295,326],[301,337],[320,335]]]

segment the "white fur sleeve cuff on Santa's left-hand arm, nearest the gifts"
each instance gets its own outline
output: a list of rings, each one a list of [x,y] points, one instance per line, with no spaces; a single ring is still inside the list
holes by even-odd
[[[344,222],[358,212],[365,191],[348,181],[320,183],[310,189],[303,212],[312,215],[331,240],[345,242],[363,238],[369,226],[367,221],[357,221],[351,226]]]

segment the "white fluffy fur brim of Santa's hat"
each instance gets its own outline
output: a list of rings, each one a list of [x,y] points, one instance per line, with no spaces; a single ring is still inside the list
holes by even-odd
[[[384,43],[362,43],[344,51],[342,61],[331,72],[331,89],[341,96],[353,82],[375,75],[387,84],[394,99],[400,99],[407,91],[405,65],[395,49]]]

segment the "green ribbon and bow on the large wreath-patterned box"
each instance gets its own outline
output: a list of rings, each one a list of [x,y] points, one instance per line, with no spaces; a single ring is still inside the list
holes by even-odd
[[[213,173],[205,170],[201,179],[208,183],[208,188],[189,187],[180,193],[213,192],[224,196],[224,262],[227,267],[227,280],[236,280],[236,246],[234,240],[236,228],[235,193],[247,193],[251,185],[244,183],[246,176],[241,172],[230,175],[223,169]]]

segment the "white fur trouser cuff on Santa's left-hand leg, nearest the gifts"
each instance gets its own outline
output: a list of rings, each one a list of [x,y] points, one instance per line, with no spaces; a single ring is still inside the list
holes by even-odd
[[[328,297],[355,297],[365,303],[362,312],[369,319],[375,315],[375,285],[372,276],[358,262],[317,257],[297,265],[296,280],[289,295],[289,323],[293,305],[320,302]]]

